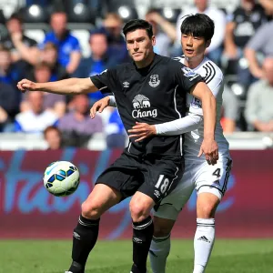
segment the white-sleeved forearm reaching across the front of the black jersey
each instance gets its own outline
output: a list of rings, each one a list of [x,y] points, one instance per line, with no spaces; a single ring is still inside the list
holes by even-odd
[[[156,124],[157,135],[175,136],[196,130],[203,122],[203,116],[188,113],[187,116],[173,121]]]

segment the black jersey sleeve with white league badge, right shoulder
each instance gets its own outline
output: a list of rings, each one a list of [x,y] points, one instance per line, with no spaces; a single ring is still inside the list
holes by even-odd
[[[174,63],[175,64],[173,68],[173,73],[175,76],[175,82],[178,86],[186,90],[187,93],[190,93],[192,86],[195,86],[197,83],[204,81],[202,76],[200,76],[187,66],[184,66],[177,61],[174,61]]]

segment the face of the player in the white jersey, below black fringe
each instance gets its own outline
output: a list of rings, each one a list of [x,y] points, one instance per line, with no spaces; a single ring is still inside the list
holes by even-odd
[[[204,56],[207,46],[210,41],[205,40],[204,37],[182,34],[181,45],[182,50],[187,58],[194,58],[197,56]]]

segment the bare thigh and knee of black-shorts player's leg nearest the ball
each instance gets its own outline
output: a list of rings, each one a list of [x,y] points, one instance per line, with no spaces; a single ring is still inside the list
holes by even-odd
[[[105,184],[96,184],[86,201],[82,204],[82,214],[86,217],[100,217],[107,209],[120,202],[119,191]]]

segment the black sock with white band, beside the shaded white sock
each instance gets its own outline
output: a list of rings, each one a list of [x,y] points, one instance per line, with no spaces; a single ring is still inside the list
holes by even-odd
[[[141,222],[133,222],[133,273],[147,272],[147,255],[154,233],[152,217]]]

